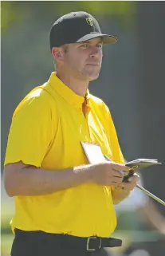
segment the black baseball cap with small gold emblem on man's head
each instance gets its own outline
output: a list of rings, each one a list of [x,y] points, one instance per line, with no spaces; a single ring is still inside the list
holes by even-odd
[[[72,12],[54,22],[49,34],[50,48],[96,37],[101,37],[105,44],[117,41],[116,37],[101,33],[99,23],[91,14],[84,11]]]

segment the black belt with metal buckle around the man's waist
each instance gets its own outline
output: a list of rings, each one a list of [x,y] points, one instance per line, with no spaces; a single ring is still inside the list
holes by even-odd
[[[66,245],[79,246],[82,250],[99,250],[102,247],[119,247],[122,245],[122,240],[117,238],[100,238],[91,236],[88,238],[81,238],[69,234],[51,234],[45,233],[41,230],[37,231],[24,231],[15,229],[15,234],[27,234],[34,237],[45,237],[50,239],[62,239],[66,242]]]

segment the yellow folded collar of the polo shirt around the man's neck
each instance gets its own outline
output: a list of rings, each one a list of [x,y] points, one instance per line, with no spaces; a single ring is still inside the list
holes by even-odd
[[[86,104],[88,106],[90,94],[87,90],[87,93],[85,95],[85,98],[83,96],[80,96],[73,92],[73,90],[69,89],[67,85],[65,85],[57,76],[56,73],[51,73],[51,76],[49,77],[49,85],[53,87],[53,89],[60,94],[63,99],[69,102],[69,104],[72,104],[75,108],[82,111],[82,104],[84,103],[84,100],[86,100]]]

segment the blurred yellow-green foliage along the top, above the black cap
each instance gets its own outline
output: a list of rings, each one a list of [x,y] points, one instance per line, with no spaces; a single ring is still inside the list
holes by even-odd
[[[45,13],[54,12],[61,16],[68,12],[84,10],[96,16],[117,16],[120,24],[130,28],[135,22],[136,2],[130,1],[49,1],[49,2],[2,2],[2,33],[9,29],[15,22],[22,22],[27,9],[41,8],[44,6]]]

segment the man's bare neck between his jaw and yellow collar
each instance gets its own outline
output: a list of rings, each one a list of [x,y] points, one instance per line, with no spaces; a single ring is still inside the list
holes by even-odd
[[[69,89],[73,90],[74,93],[80,96],[85,96],[88,89],[88,81],[81,81],[76,77],[59,71],[57,71],[56,75],[65,85],[69,87]]]

